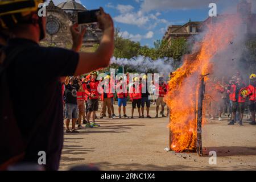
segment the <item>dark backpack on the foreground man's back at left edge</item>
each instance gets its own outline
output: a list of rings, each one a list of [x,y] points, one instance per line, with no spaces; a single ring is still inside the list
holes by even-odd
[[[26,144],[14,117],[13,104],[7,82],[7,68],[26,46],[13,49],[9,56],[3,58],[4,48],[0,50],[0,171],[11,164],[19,162],[25,154]]]

